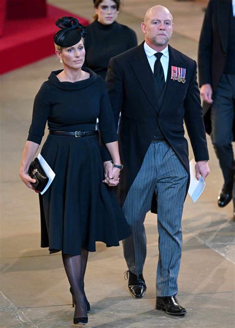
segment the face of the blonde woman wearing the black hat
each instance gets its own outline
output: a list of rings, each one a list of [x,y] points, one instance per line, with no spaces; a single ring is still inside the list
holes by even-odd
[[[81,68],[85,60],[85,48],[82,39],[72,47],[62,48],[61,52],[56,50],[59,59],[63,60],[63,65],[69,68]]]

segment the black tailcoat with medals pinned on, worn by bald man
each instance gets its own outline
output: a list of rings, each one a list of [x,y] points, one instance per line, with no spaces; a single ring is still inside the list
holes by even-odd
[[[121,161],[124,164],[118,185],[121,205],[143,163],[157,121],[188,172],[188,144],[184,138],[183,120],[195,160],[209,158],[196,81],[196,62],[169,46],[168,77],[163,94],[157,99],[155,78],[143,45],[112,58],[106,77],[116,126],[121,111],[118,131]],[[186,68],[184,84],[171,79],[172,65]],[[156,213],[156,207],[152,206],[152,212]]]

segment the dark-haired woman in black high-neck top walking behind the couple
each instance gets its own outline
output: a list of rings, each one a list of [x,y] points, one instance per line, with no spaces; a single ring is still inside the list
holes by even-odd
[[[137,46],[135,32],[116,22],[120,0],[93,0],[95,20],[87,26],[84,66],[103,79],[112,57]]]

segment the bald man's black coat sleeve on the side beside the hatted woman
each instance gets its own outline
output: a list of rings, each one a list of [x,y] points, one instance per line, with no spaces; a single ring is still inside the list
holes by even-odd
[[[122,76],[117,69],[115,58],[110,59],[108,72],[106,75],[106,84],[108,87],[110,102],[114,112],[115,125],[117,128],[122,107],[123,82]]]

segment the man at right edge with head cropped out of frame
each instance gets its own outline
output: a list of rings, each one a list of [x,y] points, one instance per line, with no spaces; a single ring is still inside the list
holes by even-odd
[[[235,0],[209,1],[199,40],[198,68],[206,131],[211,134],[224,177],[218,205],[224,207],[232,199],[234,185]]]

